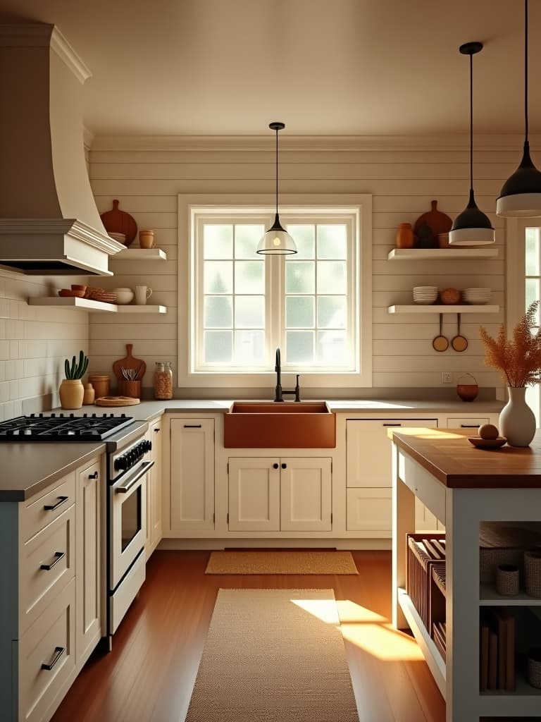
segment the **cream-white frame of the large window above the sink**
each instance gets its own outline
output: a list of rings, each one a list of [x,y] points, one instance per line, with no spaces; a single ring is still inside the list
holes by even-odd
[[[205,194],[192,195],[181,193],[178,196],[178,385],[181,387],[199,388],[254,388],[272,386],[275,374],[272,371],[261,370],[258,373],[249,373],[235,370],[232,373],[213,373],[211,371],[194,371],[194,353],[192,347],[193,323],[197,322],[198,310],[194,303],[193,282],[196,268],[194,253],[194,223],[198,213],[212,213],[224,217],[228,212],[234,214],[237,210],[250,210],[253,212],[272,215],[275,212],[276,199],[271,194]],[[302,373],[301,385],[304,388],[344,388],[344,387],[371,387],[371,360],[372,360],[372,285],[371,285],[371,195],[352,194],[283,194],[278,206],[281,214],[310,211],[322,214],[327,210],[330,214],[336,212],[356,213],[356,242],[357,258],[353,264],[348,264],[348,273],[356,273],[356,299],[348,298],[348,304],[356,303],[359,311],[356,314],[356,336],[359,344],[359,369],[343,373],[329,373],[316,368],[308,368]],[[299,219],[300,220],[300,219]],[[289,220],[289,222],[294,222]],[[323,221],[322,221],[323,222]],[[281,258],[273,258],[278,263]],[[184,289],[184,292],[182,292]],[[281,292],[281,290],[280,290]],[[266,303],[271,304],[269,296]],[[276,308],[276,306],[275,306]],[[270,316],[271,323],[276,318]],[[281,319],[278,319],[281,322]],[[274,349],[267,349],[267,353]],[[285,364],[283,372],[289,373]],[[291,373],[294,373],[291,370]],[[284,379],[284,384],[289,380]]]

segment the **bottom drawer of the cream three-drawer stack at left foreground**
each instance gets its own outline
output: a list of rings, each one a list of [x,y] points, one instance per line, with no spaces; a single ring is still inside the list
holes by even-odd
[[[43,669],[42,665],[52,669]],[[75,580],[72,579],[19,642],[19,720],[43,720],[53,700],[62,690],[67,690],[74,677]]]

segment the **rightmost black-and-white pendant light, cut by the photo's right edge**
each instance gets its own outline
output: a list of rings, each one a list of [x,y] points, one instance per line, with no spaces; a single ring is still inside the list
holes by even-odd
[[[496,214],[504,218],[541,216],[541,173],[529,157],[528,142],[528,0],[524,0],[524,150],[519,167],[503,183]]]

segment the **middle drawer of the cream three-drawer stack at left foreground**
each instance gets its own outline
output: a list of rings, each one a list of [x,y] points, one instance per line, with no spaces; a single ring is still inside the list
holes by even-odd
[[[20,627],[27,629],[74,576],[75,506],[72,504],[20,552]],[[50,568],[44,568],[49,566]]]

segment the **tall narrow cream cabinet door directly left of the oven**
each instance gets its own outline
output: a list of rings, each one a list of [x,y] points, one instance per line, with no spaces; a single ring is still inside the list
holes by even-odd
[[[76,662],[89,656],[102,635],[102,460],[77,471],[76,478]]]

